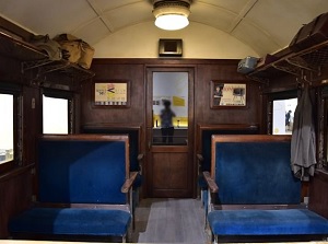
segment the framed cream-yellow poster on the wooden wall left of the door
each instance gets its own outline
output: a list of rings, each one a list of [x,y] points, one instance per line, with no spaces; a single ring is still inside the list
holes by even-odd
[[[96,81],[94,83],[94,105],[99,107],[129,107],[129,81]]]

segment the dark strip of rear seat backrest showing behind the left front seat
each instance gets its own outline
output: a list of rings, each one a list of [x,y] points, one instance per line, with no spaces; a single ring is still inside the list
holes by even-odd
[[[113,129],[113,128],[84,128],[85,133],[104,133],[104,135],[128,135],[129,136],[129,153],[130,153],[130,171],[140,171],[138,162],[139,154],[139,130],[138,129]]]

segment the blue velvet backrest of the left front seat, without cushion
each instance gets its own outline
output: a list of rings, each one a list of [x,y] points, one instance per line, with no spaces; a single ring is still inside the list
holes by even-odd
[[[40,202],[126,204],[128,138],[118,141],[42,139],[38,153]]]

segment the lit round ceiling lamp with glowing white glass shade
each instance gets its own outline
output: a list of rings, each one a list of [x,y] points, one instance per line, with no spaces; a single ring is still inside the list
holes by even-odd
[[[155,25],[166,31],[176,31],[189,24],[190,0],[154,0]]]

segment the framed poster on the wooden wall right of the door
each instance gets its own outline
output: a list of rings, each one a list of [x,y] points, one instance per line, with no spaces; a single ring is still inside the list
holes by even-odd
[[[211,108],[246,107],[247,85],[243,81],[211,81]]]

